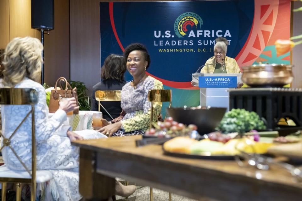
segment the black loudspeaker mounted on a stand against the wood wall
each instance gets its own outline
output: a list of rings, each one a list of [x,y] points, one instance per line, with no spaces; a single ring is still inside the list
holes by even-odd
[[[31,28],[54,29],[54,0],[31,0]]]

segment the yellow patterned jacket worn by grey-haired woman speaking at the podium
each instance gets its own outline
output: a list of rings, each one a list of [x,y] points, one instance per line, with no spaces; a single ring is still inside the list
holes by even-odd
[[[225,57],[226,73],[241,73],[240,68],[235,59],[231,57]],[[212,64],[212,65],[209,65]],[[216,59],[211,57],[205,62],[205,66],[201,69],[200,73],[214,73]]]

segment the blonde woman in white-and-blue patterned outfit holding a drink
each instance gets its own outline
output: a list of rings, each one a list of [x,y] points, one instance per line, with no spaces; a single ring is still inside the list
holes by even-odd
[[[49,170],[54,179],[51,188],[45,189],[46,200],[80,200],[79,185],[79,150],[71,146],[70,141],[86,139],[87,136],[70,131],[70,126],[62,125],[66,113],[78,108],[75,98],[60,102],[59,109],[48,117],[46,93],[39,81],[42,65],[41,42],[36,38],[14,38],[7,45],[3,59],[3,86],[10,88],[32,88],[38,92],[35,105],[36,161],[37,170]],[[2,133],[10,136],[26,116],[31,106],[3,105]],[[80,133],[80,132],[79,132]],[[91,138],[103,135],[90,133]],[[27,118],[11,138],[11,146],[25,165],[31,168],[31,118]],[[6,166],[15,171],[24,171],[24,167],[8,147],[2,150]],[[51,190],[50,190],[51,189]],[[37,191],[38,192],[38,191]],[[51,192],[51,193],[50,193]]]

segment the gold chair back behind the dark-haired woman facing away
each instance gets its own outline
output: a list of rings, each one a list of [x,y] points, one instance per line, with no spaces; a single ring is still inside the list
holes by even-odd
[[[120,94],[121,94],[120,90],[108,90],[108,91],[98,90],[98,91],[96,91],[95,92],[95,100],[98,101],[98,111],[101,111],[100,107],[102,107],[107,112],[109,117],[111,119],[113,119],[113,117],[111,117],[109,112],[101,104],[101,101],[120,101],[121,100],[121,95]]]

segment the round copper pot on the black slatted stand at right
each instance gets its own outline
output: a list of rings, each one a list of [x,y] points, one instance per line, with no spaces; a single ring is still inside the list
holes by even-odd
[[[252,87],[282,87],[293,81],[292,67],[274,63],[245,66],[241,80]]]

